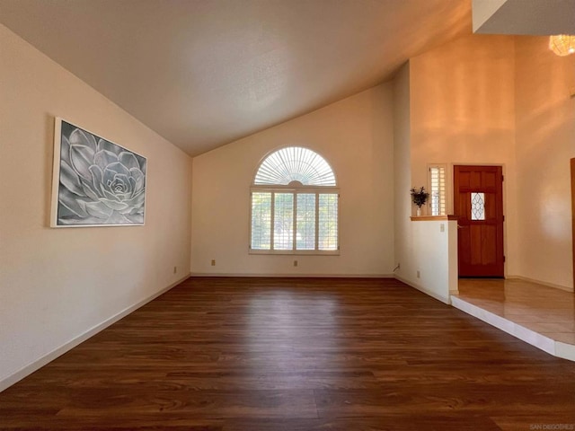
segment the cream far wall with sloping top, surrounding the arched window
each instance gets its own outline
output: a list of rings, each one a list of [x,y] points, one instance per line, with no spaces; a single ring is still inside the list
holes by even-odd
[[[194,274],[389,275],[394,268],[392,86],[382,84],[225,145],[193,161]],[[287,145],[332,165],[341,191],[339,256],[250,255],[250,185],[261,159]],[[216,259],[216,266],[210,266]],[[293,266],[293,260],[298,266]]]

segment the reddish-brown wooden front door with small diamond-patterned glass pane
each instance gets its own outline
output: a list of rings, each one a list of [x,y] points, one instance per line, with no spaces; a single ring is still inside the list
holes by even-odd
[[[459,277],[503,277],[501,166],[454,166]]]

